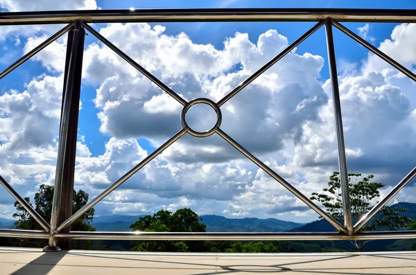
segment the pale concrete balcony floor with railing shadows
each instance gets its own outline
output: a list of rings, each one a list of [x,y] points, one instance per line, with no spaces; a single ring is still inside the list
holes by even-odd
[[[0,274],[416,274],[416,251],[177,254],[0,247]]]

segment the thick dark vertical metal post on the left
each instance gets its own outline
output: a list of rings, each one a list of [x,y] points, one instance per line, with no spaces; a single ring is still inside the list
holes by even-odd
[[[62,112],[56,163],[55,188],[51,213],[51,238],[46,251],[59,251],[54,237],[58,222],[72,215],[73,174],[75,172],[78,109],[80,102],[81,71],[83,67],[85,30],[76,21],[68,34],[67,60],[64,71]],[[70,228],[67,229],[69,231]],[[60,242],[62,249],[70,249],[71,240]]]

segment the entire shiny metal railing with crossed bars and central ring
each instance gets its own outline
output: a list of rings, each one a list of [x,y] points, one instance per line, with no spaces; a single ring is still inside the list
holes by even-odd
[[[241,82],[240,85],[229,91],[221,100],[215,103],[207,98],[196,98],[191,101],[184,100],[181,96],[175,93],[163,82],[158,80],[151,73],[146,71],[144,67],[140,66],[132,60],[131,57],[123,53],[119,48],[114,46],[110,41],[105,39],[88,23],[112,23],[112,22],[196,22],[196,21],[317,21],[318,23],[308,30],[304,35],[299,37],[295,42],[290,44],[281,53],[272,58],[270,62],[262,66],[258,71]],[[60,135],[58,143],[58,160],[56,166],[55,188],[53,194],[53,207],[51,213],[51,224],[49,225],[34,209],[28,204],[15,190],[8,184],[8,182],[0,177],[0,183],[15,197],[28,213],[42,226],[44,231],[27,231],[18,229],[0,229],[0,236],[18,237],[18,238],[46,238],[49,239],[49,249],[57,247],[57,240],[59,239],[89,239],[89,240],[370,240],[370,239],[393,239],[393,238],[416,238],[415,231],[376,231],[376,232],[359,232],[359,230],[368,222],[374,215],[385,206],[393,196],[395,196],[401,188],[404,188],[409,181],[416,175],[416,168],[414,168],[404,179],[402,179],[397,186],[395,186],[388,195],[383,197],[374,208],[366,213],[356,224],[353,224],[352,211],[349,200],[348,176],[347,176],[347,162],[345,157],[345,144],[343,134],[343,117],[340,107],[340,94],[338,90],[338,78],[336,57],[333,44],[333,26],[341,30],[343,33],[354,39],[359,44],[365,46],[368,50],[378,55],[383,60],[388,62],[401,73],[404,73],[409,78],[416,81],[414,73],[406,69],[404,66],[393,60],[385,53],[382,53],[372,44],[366,42],[364,39],[347,29],[340,24],[341,21],[361,21],[361,22],[416,22],[415,10],[353,10],[353,9],[201,9],[201,10],[87,10],[87,11],[57,11],[57,12],[4,12],[0,14],[0,25],[19,25],[19,24],[68,24],[62,30],[52,35],[45,42],[34,48],[32,51],[21,57],[17,62],[9,66],[6,70],[0,73],[0,79],[6,76],[10,71],[13,71],[23,62],[26,62],[30,57],[41,51],[43,48],[51,44],[55,39],[69,32],[67,44],[67,60],[64,71],[64,89],[62,95],[62,114],[60,121]],[[329,60],[329,71],[332,86],[333,96],[333,110],[336,127],[336,137],[338,141],[338,163],[340,170],[340,183],[343,197],[343,213],[344,224],[338,223],[325,211],[320,209],[308,197],[297,190],[293,185],[288,183],[284,178],[279,176],[275,171],[269,168],[265,163],[254,157],[253,154],[245,150],[243,146],[234,141],[231,136],[221,130],[221,109],[220,107],[227,103],[229,99],[239,93],[252,81],[258,78],[262,73],[269,69],[273,64],[281,60],[282,57],[290,53],[296,46],[304,41],[307,37],[315,33],[316,30],[325,26],[327,34],[327,49]],[[161,145],[155,152],[149,154],[137,166],[132,168],[123,177],[108,186],[103,192],[89,201],[83,208],[76,213],[64,217],[62,213],[62,188],[64,182],[72,181],[73,186],[73,172],[75,162],[71,165],[70,172],[67,168],[67,159],[69,154],[74,150],[74,139],[76,137],[76,129],[73,130],[73,125],[78,121],[77,104],[80,99],[80,79],[81,67],[83,62],[83,47],[85,30],[97,37],[103,44],[112,49],[117,55],[122,57],[130,65],[140,71],[146,78],[151,80],[155,85],[165,91],[167,94],[175,98],[178,103],[183,106],[180,120],[182,122],[182,130],[177,132],[174,136]],[[216,124],[206,132],[198,132],[191,129],[186,121],[186,114],[189,108],[196,104],[206,104],[214,109],[216,112]],[[74,124],[75,123],[75,124]],[[75,127],[76,128],[76,127]],[[72,129],[72,130],[71,130]],[[277,232],[277,233],[181,233],[181,232],[64,232],[76,219],[86,213],[95,204],[101,201],[104,197],[110,194],[114,189],[123,184],[124,181],[135,175],[137,171],[146,166],[152,159],[161,154],[166,148],[175,143],[184,134],[191,134],[199,138],[218,134],[227,143],[239,150],[245,157],[250,159],[264,172],[270,175],[273,179],[287,188],[293,195],[302,200],[306,205],[318,213],[322,218],[327,220],[330,224],[338,229],[339,233],[321,232],[321,233],[291,233],[291,232]],[[75,138],[76,143],[76,138]],[[72,179],[70,179],[72,177]],[[69,178],[69,180],[68,180]],[[66,220],[62,220],[62,217]],[[62,222],[59,222],[62,220]]]

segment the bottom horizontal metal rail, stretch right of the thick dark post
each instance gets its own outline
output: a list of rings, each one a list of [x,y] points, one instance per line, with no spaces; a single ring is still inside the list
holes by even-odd
[[[76,232],[56,238],[80,240],[389,240],[413,239],[416,231],[361,232],[356,236],[333,232]]]

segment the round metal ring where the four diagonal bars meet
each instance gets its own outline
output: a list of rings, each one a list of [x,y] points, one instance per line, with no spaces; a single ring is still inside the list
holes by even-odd
[[[193,105],[200,104],[200,103],[211,106],[217,115],[217,121],[215,125],[211,129],[205,132],[198,132],[198,131],[192,130],[191,127],[189,127],[187,123],[187,118],[186,118],[189,108],[191,108]],[[182,109],[182,114],[180,115],[180,122],[182,123],[182,127],[184,127],[184,129],[187,130],[189,134],[191,134],[192,136],[196,136],[196,137],[211,136],[211,134],[214,134],[214,132],[220,127],[222,120],[223,120],[223,115],[221,114],[220,107],[218,107],[216,103],[214,103],[214,101],[209,100],[208,98],[195,98],[189,101],[189,103],[184,106],[184,109]]]

